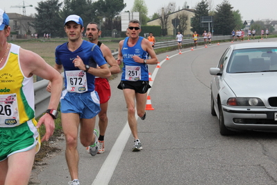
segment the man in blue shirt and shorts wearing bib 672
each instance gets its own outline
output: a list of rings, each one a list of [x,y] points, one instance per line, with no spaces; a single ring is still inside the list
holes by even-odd
[[[94,78],[109,78],[110,70],[100,48],[82,39],[83,20],[78,15],[65,19],[65,33],[68,42],[56,47],[58,72],[64,70],[65,90],[60,98],[62,129],[65,134],[65,156],[72,178],[70,184],[78,180],[78,129],[84,147],[90,147],[90,154],[98,152],[98,132],[94,130],[95,116],[100,112],[99,96],[94,90]],[[99,67],[96,67],[96,66]],[[51,88],[49,86],[48,88]]]

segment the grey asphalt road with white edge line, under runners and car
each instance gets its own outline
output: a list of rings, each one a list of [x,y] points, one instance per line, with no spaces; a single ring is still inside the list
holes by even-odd
[[[229,45],[170,51],[158,55],[160,68],[149,65],[155,110],[147,111],[146,120],[138,119],[140,152],[132,152],[126,103],[117,89],[120,79],[110,81],[106,152],[91,156],[78,145],[81,184],[277,184],[277,135],[249,131],[221,136],[219,121],[210,114],[209,68]],[[65,147],[63,141],[56,145]],[[64,150],[44,163],[32,177],[40,184],[71,180]]]

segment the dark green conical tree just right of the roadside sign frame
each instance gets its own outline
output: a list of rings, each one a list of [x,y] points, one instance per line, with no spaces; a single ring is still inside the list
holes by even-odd
[[[230,35],[235,27],[235,19],[233,15],[233,7],[228,0],[224,0],[215,8],[215,25],[214,30],[216,34]]]

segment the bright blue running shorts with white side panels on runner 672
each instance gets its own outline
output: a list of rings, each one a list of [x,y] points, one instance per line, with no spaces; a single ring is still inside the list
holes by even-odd
[[[61,113],[78,113],[80,118],[91,119],[100,111],[99,96],[95,90],[85,93],[62,91],[62,97],[60,97]]]

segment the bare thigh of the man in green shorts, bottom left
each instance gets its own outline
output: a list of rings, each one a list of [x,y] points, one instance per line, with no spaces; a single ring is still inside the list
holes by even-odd
[[[0,162],[0,184],[26,185],[35,159],[35,147],[26,152],[12,154]]]

